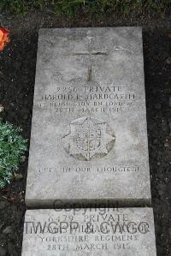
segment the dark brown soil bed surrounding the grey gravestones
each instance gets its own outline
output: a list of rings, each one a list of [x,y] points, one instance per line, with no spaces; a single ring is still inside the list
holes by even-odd
[[[4,18],[12,30],[11,43],[0,53],[0,104],[3,117],[23,129],[30,139],[32,99],[36,67],[38,27],[144,27],[144,77],[150,154],[152,205],[155,214],[157,256],[171,256],[171,30],[170,20],[88,21],[56,20],[50,16]],[[150,25],[153,25],[150,27]],[[2,25],[1,25],[2,26]],[[0,256],[21,255],[23,220],[26,211],[27,159],[21,179],[0,192]]]

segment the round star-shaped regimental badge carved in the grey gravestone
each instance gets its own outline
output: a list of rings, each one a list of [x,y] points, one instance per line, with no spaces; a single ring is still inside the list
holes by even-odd
[[[70,123],[70,132],[62,137],[70,156],[90,161],[106,156],[114,146],[115,134],[107,122],[81,117]]]

